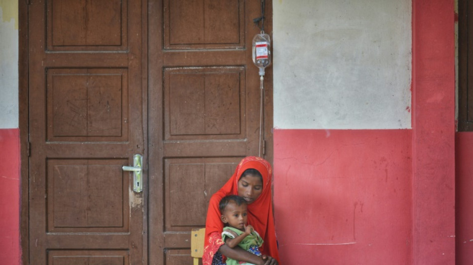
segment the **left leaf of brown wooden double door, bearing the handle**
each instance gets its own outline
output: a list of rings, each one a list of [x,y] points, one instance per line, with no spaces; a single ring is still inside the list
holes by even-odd
[[[29,262],[142,264],[141,3],[31,1]],[[128,32],[133,32],[129,34]]]

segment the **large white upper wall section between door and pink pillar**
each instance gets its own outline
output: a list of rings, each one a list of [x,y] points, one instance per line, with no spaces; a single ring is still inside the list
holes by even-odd
[[[274,127],[411,128],[411,0],[273,0]]]

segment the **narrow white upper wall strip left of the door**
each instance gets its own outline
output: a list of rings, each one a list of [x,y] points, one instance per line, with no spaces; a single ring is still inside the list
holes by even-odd
[[[18,128],[18,1],[0,0],[0,129]]]

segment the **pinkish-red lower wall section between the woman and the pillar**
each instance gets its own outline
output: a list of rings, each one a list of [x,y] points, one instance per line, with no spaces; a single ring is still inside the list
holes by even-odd
[[[411,130],[275,130],[281,263],[411,264]]]

